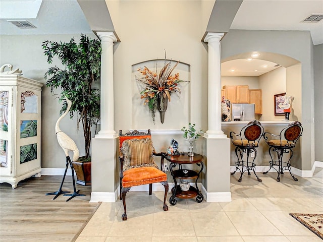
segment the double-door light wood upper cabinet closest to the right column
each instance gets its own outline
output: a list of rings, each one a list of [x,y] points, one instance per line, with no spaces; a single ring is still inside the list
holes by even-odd
[[[249,103],[249,86],[224,86],[226,90],[226,99],[231,103]]]

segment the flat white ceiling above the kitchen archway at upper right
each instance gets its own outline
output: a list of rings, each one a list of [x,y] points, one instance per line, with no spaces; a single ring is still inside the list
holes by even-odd
[[[303,23],[323,14],[323,0],[244,0],[230,29],[310,31],[313,44],[323,43],[323,20]]]

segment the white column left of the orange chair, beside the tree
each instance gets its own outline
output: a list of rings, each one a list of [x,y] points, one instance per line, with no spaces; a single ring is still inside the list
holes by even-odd
[[[117,38],[113,32],[97,32],[101,39],[101,120],[100,131],[95,138],[115,138],[114,131],[114,88],[113,88],[113,42]]]

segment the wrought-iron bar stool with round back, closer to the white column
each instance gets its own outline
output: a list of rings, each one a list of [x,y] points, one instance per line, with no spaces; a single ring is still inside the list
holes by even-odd
[[[261,126],[258,120],[254,120],[248,123],[245,127],[242,128],[240,134],[236,134],[233,131],[230,132],[231,142],[234,146],[236,146],[235,152],[238,157],[238,161],[236,162],[236,170],[231,173],[234,175],[237,170],[240,171],[239,182],[242,180],[242,175],[245,171],[248,171],[248,175],[250,175],[250,169],[253,170],[253,173],[257,177],[258,181],[262,181],[256,174],[254,160],[257,157],[257,150],[255,148],[258,147],[259,140],[261,139],[263,134],[263,127]],[[239,155],[240,159],[239,159]],[[244,154],[246,153],[247,160],[244,159]],[[249,161],[250,154],[254,153],[254,157],[252,162]],[[241,167],[241,169],[240,169]]]

